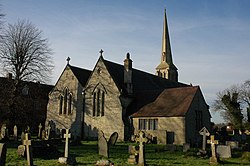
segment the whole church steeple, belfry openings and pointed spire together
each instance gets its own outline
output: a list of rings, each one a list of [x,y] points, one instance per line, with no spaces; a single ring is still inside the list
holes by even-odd
[[[170,47],[170,39],[167,25],[166,9],[164,11],[163,33],[162,33],[162,50],[161,62],[156,67],[156,75],[172,81],[178,82],[177,68],[173,64],[172,52]]]

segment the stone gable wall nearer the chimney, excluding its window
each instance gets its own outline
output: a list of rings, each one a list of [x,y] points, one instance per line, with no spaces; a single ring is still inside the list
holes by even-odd
[[[108,139],[113,132],[118,133],[118,140],[124,139],[124,124],[122,121],[122,106],[119,100],[120,92],[100,58],[86,85],[84,137],[97,139],[98,130],[102,130]],[[104,92],[104,115],[93,115],[94,93]]]

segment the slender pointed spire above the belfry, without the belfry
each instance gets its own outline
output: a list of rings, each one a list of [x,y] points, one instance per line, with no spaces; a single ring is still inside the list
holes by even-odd
[[[172,53],[170,47],[169,33],[168,33],[168,23],[166,9],[164,10],[164,20],[163,20],[163,33],[162,33],[162,57],[161,61],[167,64],[173,64]]]

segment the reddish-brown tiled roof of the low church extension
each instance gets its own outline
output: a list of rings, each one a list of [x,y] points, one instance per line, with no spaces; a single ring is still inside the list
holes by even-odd
[[[142,107],[132,117],[185,116],[198,90],[198,86],[165,89],[154,102]]]

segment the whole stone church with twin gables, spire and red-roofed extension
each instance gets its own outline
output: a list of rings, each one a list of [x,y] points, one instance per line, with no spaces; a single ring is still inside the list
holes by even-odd
[[[210,128],[200,87],[178,82],[166,11],[156,75],[133,68],[129,53],[121,65],[106,60],[101,50],[92,71],[69,60],[49,94],[46,123],[55,134],[70,129],[74,139],[97,139],[102,130],[106,138],[117,132],[121,141],[143,130],[158,143],[183,144]]]

